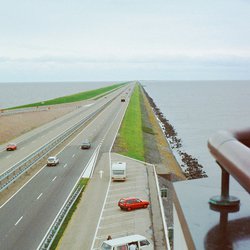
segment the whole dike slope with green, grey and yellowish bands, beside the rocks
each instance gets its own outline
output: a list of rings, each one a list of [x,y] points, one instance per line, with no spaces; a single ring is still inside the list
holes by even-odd
[[[131,96],[113,151],[155,164],[158,174],[185,179],[139,83]]]

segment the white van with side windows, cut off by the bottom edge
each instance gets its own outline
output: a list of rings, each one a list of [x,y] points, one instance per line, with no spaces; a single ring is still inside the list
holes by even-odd
[[[124,236],[113,240],[105,240],[100,250],[129,250],[130,245],[136,245],[137,250],[153,250],[153,244],[150,241],[139,234]]]

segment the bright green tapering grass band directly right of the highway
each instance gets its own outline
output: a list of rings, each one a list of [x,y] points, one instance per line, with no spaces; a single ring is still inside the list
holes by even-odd
[[[119,153],[144,161],[144,143],[141,118],[141,92],[136,84],[126,114],[123,118],[117,147]]]

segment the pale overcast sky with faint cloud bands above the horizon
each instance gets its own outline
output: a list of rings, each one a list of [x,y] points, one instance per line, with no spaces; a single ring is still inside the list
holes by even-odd
[[[0,0],[0,82],[250,79],[248,0]]]

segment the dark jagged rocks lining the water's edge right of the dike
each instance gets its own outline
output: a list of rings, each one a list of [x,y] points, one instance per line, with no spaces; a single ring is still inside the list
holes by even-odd
[[[143,88],[143,87],[142,87]],[[148,101],[159,120],[159,123],[162,127],[163,133],[167,138],[172,149],[176,149],[178,154],[181,157],[182,164],[181,167],[183,169],[183,174],[185,177],[190,179],[198,179],[207,177],[206,172],[203,170],[203,166],[199,164],[198,160],[192,155],[184,152],[182,147],[181,139],[178,138],[177,132],[174,127],[170,124],[169,120],[167,120],[164,114],[160,111],[160,109],[156,106],[153,99],[148,95],[146,90],[143,88],[143,91],[148,98]]]

